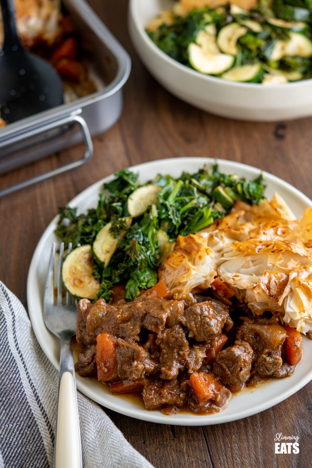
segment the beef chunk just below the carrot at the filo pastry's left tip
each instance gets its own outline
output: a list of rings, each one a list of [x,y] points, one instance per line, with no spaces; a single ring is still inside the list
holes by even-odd
[[[154,297],[144,300],[143,307],[146,315],[143,320],[143,327],[150,331],[159,333],[167,324],[173,327],[180,323],[180,316],[184,310],[183,302],[178,300],[167,300]]]

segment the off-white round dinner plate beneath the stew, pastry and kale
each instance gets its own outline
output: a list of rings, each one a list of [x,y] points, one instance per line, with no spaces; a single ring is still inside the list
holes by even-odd
[[[212,165],[214,160],[207,158],[174,158],[147,162],[130,169],[139,172],[140,182],[145,183],[158,173],[177,177],[182,170],[196,172],[205,163]],[[259,169],[238,162],[218,160],[218,164],[222,172],[228,174],[236,172],[239,176],[245,176],[249,179],[257,177],[260,173]],[[298,217],[301,216],[306,207],[312,206],[312,201],[290,184],[267,172],[264,172],[263,176],[267,184],[266,196],[269,198],[273,195],[274,190],[278,191]],[[113,176],[109,176],[94,183],[81,192],[80,195],[73,198],[69,205],[72,207],[78,206],[79,212],[95,207],[102,184],[112,178]],[[42,305],[51,245],[53,241],[58,241],[54,234],[57,220],[58,216],[51,221],[38,242],[30,263],[27,281],[27,302],[30,320],[42,349],[56,368],[58,368],[59,362],[59,343],[44,325]],[[272,379],[257,388],[245,389],[234,395],[232,401],[223,411],[208,416],[197,416],[191,413],[166,416],[161,411],[147,411],[142,402],[131,399],[126,395],[110,395],[108,386],[99,384],[94,380],[83,379],[79,375],[77,375],[77,388],[106,408],[145,421],[194,426],[226,423],[268,409],[282,402],[312,380],[312,360],[310,358],[312,355],[312,340],[304,337],[303,349],[304,357],[291,377]]]

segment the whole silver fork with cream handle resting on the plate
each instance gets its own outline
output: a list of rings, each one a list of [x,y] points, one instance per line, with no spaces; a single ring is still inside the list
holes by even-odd
[[[69,244],[68,252],[71,249],[72,245]],[[82,468],[76,378],[71,341],[75,335],[77,312],[76,307],[72,305],[72,297],[67,292],[65,305],[63,305],[63,256],[64,242],[60,244],[57,267],[55,242],[53,242],[44,290],[45,326],[61,340],[54,467]],[[57,279],[57,287],[55,287],[55,279]]]

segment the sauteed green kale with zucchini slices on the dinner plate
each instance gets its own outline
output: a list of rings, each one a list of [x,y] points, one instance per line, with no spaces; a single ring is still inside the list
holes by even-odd
[[[93,274],[100,286],[90,299],[109,301],[118,284],[126,285],[127,299],[134,299],[140,289],[157,283],[158,265],[179,234],[209,226],[228,214],[236,200],[258,203],[264,188],[261,175],[249,181],[221,173],[217,164],[178,178],[158,175],[144,186],[138,174],[123,169],[103,185],[96,208],[77,214],[76,208],[61,207],[56,234],[65,244],[72,242],[73,249],[92,246]],[[80,297],[79,291],[69,291]]]

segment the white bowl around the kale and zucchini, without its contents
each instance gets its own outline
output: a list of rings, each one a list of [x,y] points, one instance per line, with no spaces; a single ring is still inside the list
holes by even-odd
[[[312,80],[283,85],[236,83],[196,72],[162,52],[145,26],[171,0],[131,0],[129,30],[146,68],[168,91],[183,101],[223,117],[274,122],[312,115]]]

